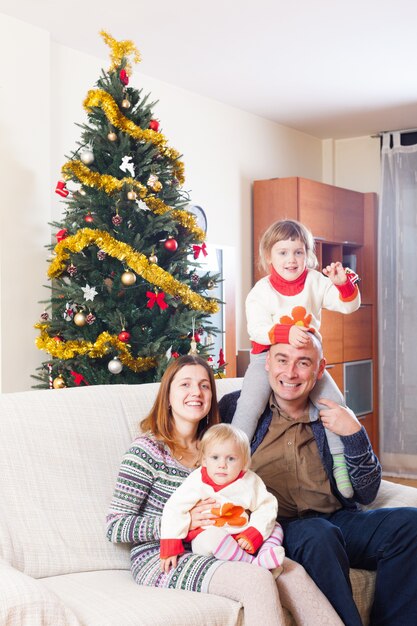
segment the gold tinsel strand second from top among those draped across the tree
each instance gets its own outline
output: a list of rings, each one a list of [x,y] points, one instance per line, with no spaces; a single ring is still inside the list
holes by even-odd
[[[192,213],[181,209],[173,210],[159,198],[155,198],[155,196],[148,196],[147,188],[130,176],[120,180],[110,174],[92,172],[89,167],[82,163],[82,161],[78,160],[67,161],[67,163],[62,166],[62,174],[65,178],[75,176],[83,185],[93,187],[94,189],[101,189],[108,195],[114,193],[115,191],[121,191],[125,185],[128,185],[138,192],[140,198],[145,202],[146,206],[151,211],[157,213],[158,215],[163,215],[168,211],[172,211],[171,214],[173,219],[181,224],[181,226],[184,226],[184,228],[187,228],[187,230],[195,236],[197,241],[204,241],[206,237],[204,231],[197,226],[195,217]]]

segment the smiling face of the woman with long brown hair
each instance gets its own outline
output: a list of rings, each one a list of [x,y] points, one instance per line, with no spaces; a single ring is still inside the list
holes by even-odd
[[[169,390],[171,414],[181,422],[198,425],[211,407],[210,379],[202,365],[184,365],[174,376]]]

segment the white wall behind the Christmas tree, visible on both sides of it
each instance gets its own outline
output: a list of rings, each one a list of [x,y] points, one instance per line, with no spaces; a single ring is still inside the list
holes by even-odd
[[[82,102],[108,50],[97,59],[51,43],[46,31],[0,14],[1,389],[28,389],[45,354],[33,323],[45,299],[48,222],[60,218],[54,194],[65,155],[86,119]],[[97,35],[98,36],[98,35]],[[13,47],[16,42],[18,46]],[[9,64],[10,60],[12,63]],[[16,71],[11,71],[11,66]],[[236,251],[237,345],[247,347],[243,301],[251,286],[251,184],[276,176],[321,179],[322,142],[141,74],[133,87],[159,100],[155,114],[169,145],[184,155],[186,183],[208,216],[208,241]],[[5,266],[5,260],[7,266]]]

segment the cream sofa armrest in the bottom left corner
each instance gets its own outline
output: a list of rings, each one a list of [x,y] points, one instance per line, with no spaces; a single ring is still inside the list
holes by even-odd
[[[81,626],[72,611],[39,580],[1,560],[0,624]]]

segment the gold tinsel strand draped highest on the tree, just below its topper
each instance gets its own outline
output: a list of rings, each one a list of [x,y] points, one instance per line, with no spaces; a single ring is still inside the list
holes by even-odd
[[[180,154],[166,145],[167,140],[162,133],[152,130],[151,128],[143,130],[140,126],[137,126],[132,120],[129,120],[121,113],[117,102],[109,93],[102,89],[91,89],[84,100],[84,107],[87,111],[92,107],[101,108],[112,126],[127,133],[133,137],[133,139],[149,141],[159,148],[162,155],[173,161],[174,174],[181,185],[184,183],[184,164],[179,160]]]

